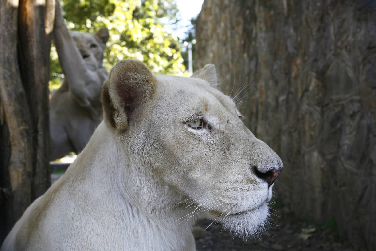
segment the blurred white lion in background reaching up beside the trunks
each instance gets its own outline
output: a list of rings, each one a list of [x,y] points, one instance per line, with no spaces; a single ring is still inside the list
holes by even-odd
[[[100,91],[109,38],[106,27],[95,34],[68,31],[59,1],[55,9],[53,38],[65,78],[50,100],[50,160],[81,152],[103,119]]]

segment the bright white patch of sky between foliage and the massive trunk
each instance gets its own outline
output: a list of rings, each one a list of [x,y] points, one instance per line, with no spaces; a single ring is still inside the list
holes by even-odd
[[[191,24],[191,18],[199,15],[203,2],[204,0],[176,0],[181,20],[175,26],[177,29],[171,30],[168,26],[166,29],[171,30],[173,35],[176,35],[180,40],[185,38],[185,32],[190,28],[187,26]]]

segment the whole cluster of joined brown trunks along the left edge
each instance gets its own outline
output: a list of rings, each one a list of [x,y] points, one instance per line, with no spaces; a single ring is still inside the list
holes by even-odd
[[[50,186],[49,46],[54,2],[0,0],[0,243]],[[52,10],[51,10],[52,9]],[[45,22],[44,19],[47,21]],[[51,24],[52,20],[52,24]]]

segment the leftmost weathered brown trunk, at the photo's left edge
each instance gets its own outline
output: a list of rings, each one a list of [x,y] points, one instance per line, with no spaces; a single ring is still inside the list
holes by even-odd
[[[32,128],[17,61],[17,5],[17,1],[2,0],[0,12],[0,95],[11,149],[9,162],[2,166],[2,171],[8,171],[2,185],[8,192],[2,204],[1,225],[5,228],[14,224],[31,202]]]

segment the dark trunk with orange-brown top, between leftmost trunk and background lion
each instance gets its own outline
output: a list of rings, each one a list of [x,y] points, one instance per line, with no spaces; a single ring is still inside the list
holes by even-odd
[[[32,200],[50,186],[49,50],[45,35],[45,2],[20,0],[18,8],[18,63],[32,122]]]

